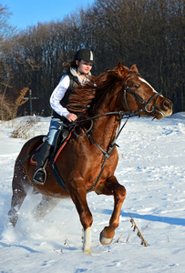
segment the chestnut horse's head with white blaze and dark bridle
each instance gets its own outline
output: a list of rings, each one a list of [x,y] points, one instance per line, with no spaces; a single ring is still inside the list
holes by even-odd
[[[136,65],[130,69],[118,63],[118,78],[121,79],[123,87],[118,96],[119,107],[133,113],[134,115],[149,115],[160,119],[172,114],[172,103],[170,99],[159,94],[139,74]]]

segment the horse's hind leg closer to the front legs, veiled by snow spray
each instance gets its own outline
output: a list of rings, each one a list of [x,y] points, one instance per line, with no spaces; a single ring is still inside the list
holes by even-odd
[[[34,209],[33,214],[36,219],[40,219],[46,216],[47,213],[52,211],[60,202],[59,198],[42,196],[40,203]]]

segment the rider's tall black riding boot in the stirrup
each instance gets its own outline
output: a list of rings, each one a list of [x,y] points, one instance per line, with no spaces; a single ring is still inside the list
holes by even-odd
[[[41,150],[38,154],[37,158],[37,163],[36,163],[36,168],[34,172],[34,176],[32,178],[32,182],[39,184],[39,185],[44,185],[46,181],[46,163],[47,159],[50,155],[50,150],[51,150],[51,145],[48,144],[47,141],[43,144],[41,147]]]

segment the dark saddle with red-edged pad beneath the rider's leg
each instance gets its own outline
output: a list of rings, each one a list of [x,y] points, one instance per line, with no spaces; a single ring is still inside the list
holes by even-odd
[[[69,140],[69,138],[70,138],[70,136],[72,134],[72,131],[73,131],[72,128],[63,128],[62,130],[60,130],[60,132],[57,135],[57,141],[56,141],[54,150],[51,153],[51,155],[49,156],[48,163],[49,163],[51,158],[53,159],[54,162],[57,161],[57,157],[61,153],[62,149],[66,146],[67,141]],[[30,158],[30,164],[36,165],[38,152],[40,150],[40,147],[42,147],[42,145],[44,144],[45,141],[46,141],[46,136],[43,137],[43,143],[36,148],[36,152]]]

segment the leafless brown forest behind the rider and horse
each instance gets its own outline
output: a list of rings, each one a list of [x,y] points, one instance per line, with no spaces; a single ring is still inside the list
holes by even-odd
[[[185,8],[183,0],[97,0],[61,21],[8,24],[0,5],[0,119],[49,116],[49,96],[78,48],[94,51],[93,75],[137,64],[149,83],[185,111]],[[17,106],[18,104],[18,106]]]

